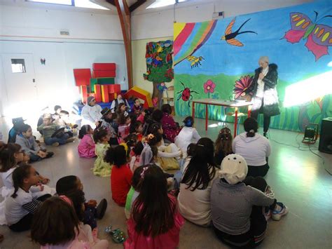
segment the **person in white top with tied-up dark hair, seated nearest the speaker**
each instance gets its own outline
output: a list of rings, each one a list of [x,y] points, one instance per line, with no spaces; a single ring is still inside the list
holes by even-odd
[[[271,154],[270,142],[266,137],[257,133],[258,123],[254,118],[244,121],[245,133],[241,133],[233,140],[233,152],[243,156],[248,164],[247,176],[265,176],[268,173],[268,161]]]

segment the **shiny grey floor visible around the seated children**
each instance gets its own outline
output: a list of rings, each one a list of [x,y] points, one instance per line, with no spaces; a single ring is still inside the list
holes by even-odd
[[[177,120],[183,119],[178,117]],[[215,140],[220,123],[218,126],[216,121],[209,121],[209,125],[216,127],[209,128],[205,133],[205,121],[195,121],[202,137]],[[0,125],[6,141],[6,123],[0,120]],[[233,127],[233,124],[229,126]],[[314,155],[306,144],[300,143],[302,136],[289,131],[270,130],[272,154],[265,179],[274,189],[276,198],[289,207],[289,214],[279,222],[269,222],[267,236],[260,248],[332,248],[332,177],[326,171],[331,172],[332,155],[318,152],[318,144],[313,144],[310,149],[321,158]],[[111,241],[104,233],[104,227],[111,224],[126,231],[124,210],[111,200],[109,177],[92,175],[90,168],[94,159],[80,159],[76,152],[77,145],[78,140],[62,147],[49,147],[55,156],[33,166],[50,178],[51,187],[64,175],[77,175],[83,182],[87,199],[106,198],[109,206],[104,218],[98,222],[99,237],[108,238],[110,248],[123,248],[123,245]],[[0,248],[39,248],[31,242],[29,232],[17,234],[3,226],[0,227],[0,234],[5,236]],[[212,229],[186,222],[181,229],[179,248],[227,247],[216,239]]]

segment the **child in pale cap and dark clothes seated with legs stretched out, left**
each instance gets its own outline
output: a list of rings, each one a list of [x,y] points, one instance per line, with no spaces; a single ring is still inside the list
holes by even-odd
[[[75,140],[74,137],[69,138],[69,135],[64,133],[64,131],[59,131],[59,126],[52,123],[51,119],[50,114],[45,114],[43,116],[43,123],[37,128],[37,130],[43,131],[44,142],[47,145],[59,146],[60,144],[67,144]]]

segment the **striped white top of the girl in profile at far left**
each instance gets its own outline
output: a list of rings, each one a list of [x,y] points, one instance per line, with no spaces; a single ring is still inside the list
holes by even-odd
[[[22,206],[29,202],[32,202],[32,192],[26,192],[19,188],[16,192],[18,196],[15,198],[9,196],[6,198],[5,203],[5,215],[8,225],[15,224],[19,222],[22,217],[25,217],[29,211],[25,210]]]

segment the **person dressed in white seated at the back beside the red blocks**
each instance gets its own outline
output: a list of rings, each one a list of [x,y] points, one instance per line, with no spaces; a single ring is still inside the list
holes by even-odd
[[[82,109],[82,126],[90,125],[92,128],[96,127],[96,122],[102,119],[102,107],[96,104],[95,97],[88,97],[86,105]]]

